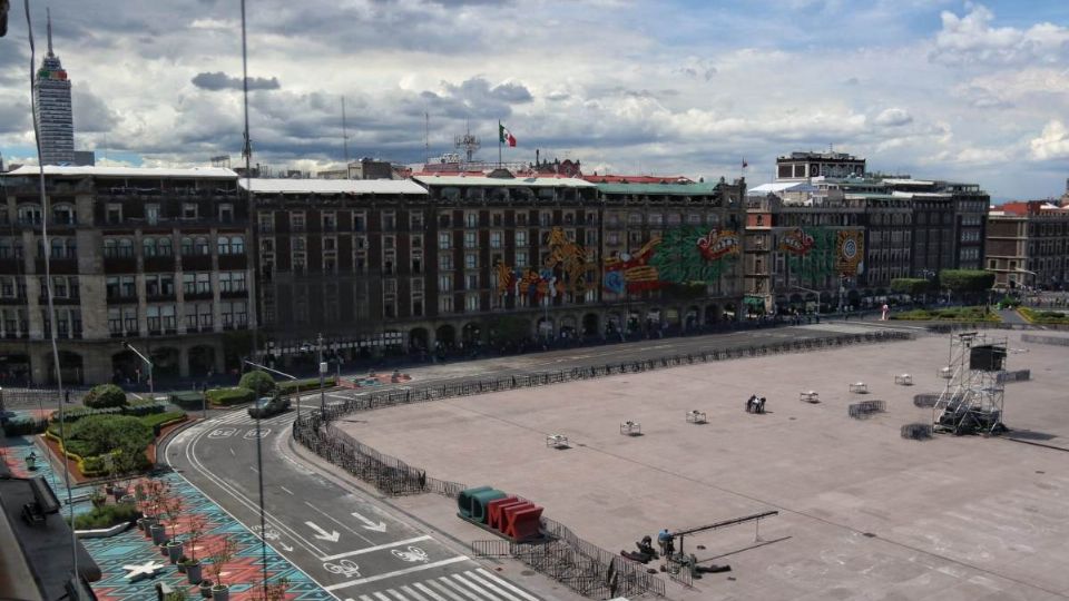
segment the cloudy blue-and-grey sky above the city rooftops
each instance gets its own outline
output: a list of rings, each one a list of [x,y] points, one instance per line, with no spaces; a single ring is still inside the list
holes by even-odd
[[[32,0],[73,81],[76,146],[144,165],[241,156],[237,0]],[[120,8],[121,7],[121,8]],[[1069,177],[1065,0],[248,0],[255,160],[415,162],[470,122],[497,158],[585,171],[772,177],[776,155],[978,181]],[[0,152],[32,156],[26,16],[0,39]]]

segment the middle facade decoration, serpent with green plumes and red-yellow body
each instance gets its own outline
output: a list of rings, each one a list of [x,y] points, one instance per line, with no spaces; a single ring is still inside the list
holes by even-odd
[[[602,287],[622,294],[668,284],[705,285],[719,279],[742,249],[737,231],[678,227],[655,237],[636,253],[605,259]]]

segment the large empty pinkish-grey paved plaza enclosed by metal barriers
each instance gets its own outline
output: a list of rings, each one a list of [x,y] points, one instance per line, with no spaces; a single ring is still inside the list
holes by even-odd
[[[531,499],[609,550],[661,528],[779,511],[757,543],[753,525],[688,538],[699,560],[733,571],[669,585],[671,598],[1065,599],[1069,353],[1019,333],[1009,346],[1009,368],[1032,372],[1007,385],[1011,435],[1048,446],[903,440],[903,424],[932,418],[913,395],[944,383],[948,337],[926,335],[379,410],[342,426],[435,477]],[[913,386],[894,383],[903,373]],[[849,392],[859,381],[867,395]],[[800,401],[807,390],[818,404]],[[744,412],[753,393],[768,398],[767,414]],[[850,418],[862,400],[887,411]],[[690,410],[708,423],[688,423]],[[621,435],[625,421],[643,435]],[[547,447],[548,434],[571,449]],[[442,497],[400,504],[458,536],[487,538]]]

